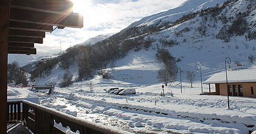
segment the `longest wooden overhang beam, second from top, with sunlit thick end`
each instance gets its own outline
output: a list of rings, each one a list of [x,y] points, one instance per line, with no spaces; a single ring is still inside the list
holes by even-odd
[[[84,18],[79,13],[60,15],[36,11],[31,12],[30,10],[23,9],[11,9],[10,20],[23,23],[82,28]]]

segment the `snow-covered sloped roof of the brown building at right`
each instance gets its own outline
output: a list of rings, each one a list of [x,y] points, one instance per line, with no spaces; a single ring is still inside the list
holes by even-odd
[[[256,70],[242,69],[239,71],[227,71],[227,80],[228,83],[256,82]],[[217,73],[205,80],[204,84],[208,83],[226,83],[226,72]]]

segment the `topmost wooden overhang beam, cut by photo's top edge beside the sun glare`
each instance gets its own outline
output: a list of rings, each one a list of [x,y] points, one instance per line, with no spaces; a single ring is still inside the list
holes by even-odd
[[[73,10],[71,0],[12,0],[13,5],[44,11],[65,12],[66,10]]]

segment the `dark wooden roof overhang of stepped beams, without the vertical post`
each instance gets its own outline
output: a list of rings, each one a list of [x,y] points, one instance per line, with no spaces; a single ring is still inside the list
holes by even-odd
[[[12,0],[8,54],[37,54],[34,43],[43,43],[54,28],[83,27],[83,16],[73,13],[70,0]]]

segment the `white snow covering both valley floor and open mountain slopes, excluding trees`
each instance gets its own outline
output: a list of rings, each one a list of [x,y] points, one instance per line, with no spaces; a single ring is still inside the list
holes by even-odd
[[[183,14],[195,12],[206,7],[213,7],[218,0],[194,0],[185,2],[177,9],[158,13],[141,19],[131,26],[153,24],[158,20],[175,21]],[[227,18],[236,16],[236,12],[245,12],[247,1],[238,0],[223,10]],[[252,12],[255,13],[255,10]],[[249,63],[247,57],[255,55],[253,48],[256,40],[248,41],[243,36],[231,37],[228,43],[217,40],[216,34],[224,25],[220,20],[206,21],[206,36],[202,36],[196,28],[201,26],[201,16],[196,16],[177,26],[163,30],[149,38],[155,40],[147,50],[134,52],[130,51],[126,57],[116,60],[115,68],[107,66],[108,71],[113,75],[112,79],[102,79],[102,76],[95,76],[84,82],[74,83],[68,88],[55,87],[54,94],[46,95],[30,91],[29,88],[8,87],[8,97],[32,97],[38,96],[41,105],[60,113],[67,113],[80,119],[93,121],[97,124],[111,126],[115,129],[125,130],[134,133],[249,133],[256,130],[256,99],[250,97],[230,96],[230,109],[227,108],[226,96],[200,96],[201,82],[200,74],[195,72],[196,80],[193,88],[186,80],[186,71],[196,71],[194,67],[199,63],[202,67],[202,79],[212,79],[215,76],[223,75],[225,69],[224,60],[230,57],[232,68],[240,71],[228,71],[229,82],[236,76],[240,79],[255,79],[256,64]],[[210,20],[210,18],[208,18]],[[255,16],[247,18],[253,23]],[[175,35],[182,29],[188,27],[188,32],[182,33],[180,37]],[[251,26],[252,29],[255,27]],[[179,44],[171,48],[163,46],[158,40],[176,40]],[[183,41],[186,38],[187,41]],[[236,48],[236,44],[238,48]],[[163,68],[163,64],[155,58],[157,46],[168,49],[171,55],[180,58],[177,63],[182,67],[182,93],[180,93],[179,76],[176,82],[165,86],[165,97],[160,96],[162,84],[157,79],[157,72]],[[234,62],[240,62],[242,66],[236,66]],[[73,79],[77,77],[76,66],[69,68],[73,73]],[[247,72],[246,72],[247,71]],[[59,66],[52,70],[52,74],[42,79],[40,83],[60,82],[65,71]],[[219,74],[216,74],[221,72]],[[237,73],[236,73],[237,72]],[[247,73],[247,75],[241,75]],[[216,75],[215,75],[216,74]],[[243,77],[246,76],[246,77]],[[247,77],[248,76],[248,77]],[[215,81],[221,77],[218,76]],[[93,83],[93,91],[87,83]],[[82,86],[81,86],[82,85]],[[205,86],[205,85],[203,85]],[[118,96],[105,93],[104,89],[118,87],[136,88],[137,94]],[[82,89],[81,89],[82,88]],[[215,90],[211,87],[212,91]],[[208,86],[203,87],[203,92],[208,91]],[[173,96],[171,96],[173,94]],[[254,132],[255,133],[255,132]]]

